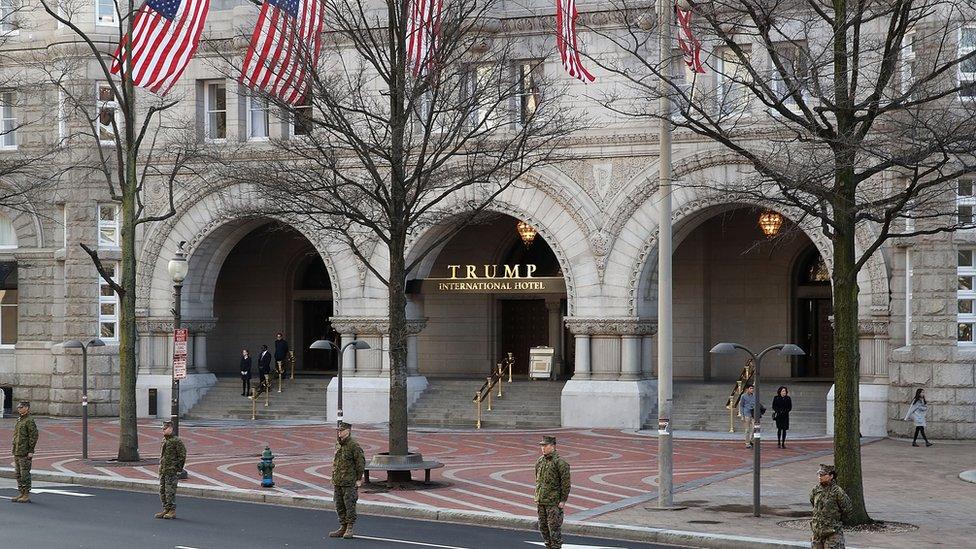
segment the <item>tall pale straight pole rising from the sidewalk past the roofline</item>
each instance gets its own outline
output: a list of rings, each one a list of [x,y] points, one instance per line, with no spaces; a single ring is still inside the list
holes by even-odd
[[[671,12],[674,0],[657,0],[658,46],[661,59],[659,108],[657,259],[657,409],[658,507],[674,506],[674,446],[671,438],[672,322],[671,322]]]

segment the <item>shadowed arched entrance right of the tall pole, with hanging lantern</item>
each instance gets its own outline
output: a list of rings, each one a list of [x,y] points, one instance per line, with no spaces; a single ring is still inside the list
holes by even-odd
[[[736,379],[743,359],[710,354],[719,341],[753,349],[797,341],[796,261],[811,257],[810,250],[816,254],[816,248],[788,219],[779,236],[767,238],[758,226],[759,213],[751,207],[727,209],[676,233],[683,236],[674,253],[676,379]],[[763,364],[767,379],[794,376],[787,360],[774,358]]]

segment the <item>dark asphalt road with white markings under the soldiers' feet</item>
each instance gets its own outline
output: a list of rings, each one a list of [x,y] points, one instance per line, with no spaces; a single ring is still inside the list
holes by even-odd
[[[327,537],[332,512],[177,497],[176,520],[153,519],[152,494],[36,483],[33,503],[0,500],[2,549],[276,549],[356,547],[396,549],[531,549],[537,532],[386,517],[360,516],[354,540]],[[43,492],[43,490],[53,490]],[[0,479],[0,497],[16,495]],[[566,536],[564,549],[666,549],[664,545]]]

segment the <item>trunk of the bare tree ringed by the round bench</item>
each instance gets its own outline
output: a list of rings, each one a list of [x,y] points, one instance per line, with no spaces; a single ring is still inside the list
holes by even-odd
[[[391,231],[390,241],[390,455],[407,455],[407,294],[406,232]],[[390,472],[390,480],[410,479],[410,472]]]

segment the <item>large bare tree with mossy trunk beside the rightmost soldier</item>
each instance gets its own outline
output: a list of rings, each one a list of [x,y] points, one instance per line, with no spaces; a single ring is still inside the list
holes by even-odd
[[[603,103],[663,120],[736,153],[754,178],[697,182],[779,204],[832,245],[834,453],[855,524],[859,441],[857,274],[889,239],[972,226],[953,183],[976,171],[976,15],[971,1],[690,0],[705,75],[665,73],[649,19],[594,29],[623,55],[604,62],[627,93]],[[642,6],[620,4],[637,13]],[[642,28],[643,27],[643,28]],[[595,60],[599,62],[599,60]],[[681,67],[681,68],[678,68]],[[673,112],[648,107],[668,83]],[[947,199],[948,197],[948,199]],[[857,239],[856,235],[857,234]]]

